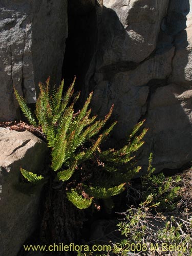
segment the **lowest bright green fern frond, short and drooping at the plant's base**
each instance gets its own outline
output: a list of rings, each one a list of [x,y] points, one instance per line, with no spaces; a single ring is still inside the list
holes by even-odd
[[[72,204],[74,204],[79,209],[86,209],[90,207],[93,200],[93,198],[82,198],[82,196],[77,193],[76,189],[71,189],[70,192],[67,192],[67,198]]]

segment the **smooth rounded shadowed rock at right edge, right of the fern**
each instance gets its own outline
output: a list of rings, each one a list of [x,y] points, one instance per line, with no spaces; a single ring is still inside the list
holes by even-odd
[[[157,88],[152,95],[146,126],[147,155],[154,152],[157,170],[177,169],[192,159],[192,90],[177,84]]]

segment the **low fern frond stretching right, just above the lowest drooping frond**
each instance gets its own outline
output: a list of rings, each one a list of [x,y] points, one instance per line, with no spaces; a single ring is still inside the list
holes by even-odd
[[[110,187],[106,189],[105,187],[87,187],[85,189],[86,193],[94,198],[109,198],[122,193],[125,189],[125,183],[118,186]]]

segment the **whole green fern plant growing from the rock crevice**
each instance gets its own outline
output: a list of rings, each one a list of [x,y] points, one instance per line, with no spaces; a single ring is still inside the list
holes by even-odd
[[[101,150],[102,142],[109,136],[117,123],[113,122],[104,130],[112,115],[113,105],[103,120],[91,116],[89,105],[93,92],[90,93],[82,109],[75,113],[74,104],[79,93],[74,96],[74,83],[62,96],[64,82],[58,89],[50,89],[50,79],[45,84],[39,83],[40,93],[36,102],[35,115],[28,108],[25,99],[14,88],[16,99],[27,120],[36,127],[41,127],[51,148],[51,168],[55,180],[66,186],[66,196],[79,209],[87,208],[94,199],[108,199],[120,194],[139,170],[135,166],[135,152],[143,145],[142,140],[147,129],[139,132],[144,121],[133,129],[127,143],[115,150]],[[42,180],[42,176],[20,169],[30,182]]]

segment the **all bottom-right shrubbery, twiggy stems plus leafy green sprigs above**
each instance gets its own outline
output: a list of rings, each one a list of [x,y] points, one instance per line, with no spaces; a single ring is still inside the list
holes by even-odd
[[[171,255],[192,255],[192,219],[182,218],[181,212],[177,211],[181,178],[153,175],[154,171],[151,154],[148,172],[141,178],[143,201],[122,212],[124,217],[118,224],[125,237],[120,244],[114,244],[118,256],[170,255],[166,248],[173,245],[182,246],[182,250],[172,250]]]

